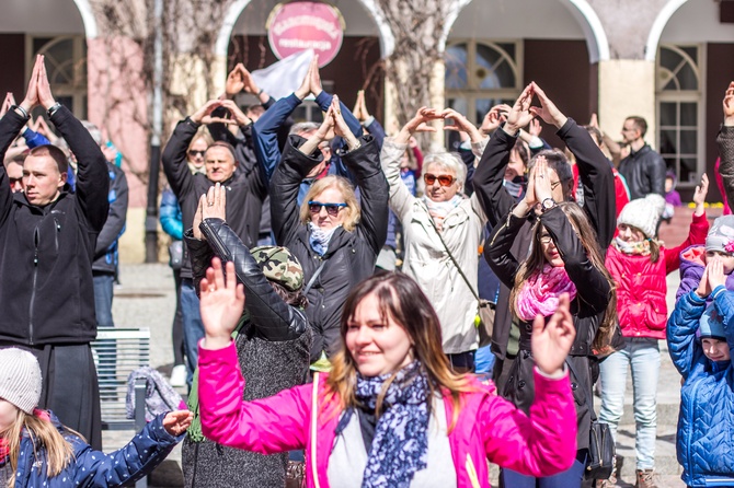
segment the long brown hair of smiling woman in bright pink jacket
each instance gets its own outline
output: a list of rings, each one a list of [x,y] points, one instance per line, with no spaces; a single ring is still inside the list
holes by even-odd
[[[342,312],[341,330],[342,348],[332,359],[333,368],[326,381],[325,402],[334,396],[339,398],[340,409],[357,406],[355,387],[357,368],[352,355],[346,350],[347,324],[353,319],[359,302],[367,295],[375,294],[380,303],[383,317],[391,317],[408,334],[413,345],[413,355],[421,362],[421,368],[428,377],[428,398],[436,394],[451,395],[454,415],[448,431],[450,432],[459,417],[461,393],[472,392],[469,376],[456,374],[449,367],[448,359],[441,348],[440,322],[431,306],[431,302],[413,279],[399,271],[375,275],[357,284],[349,293]],[[382,400],[388,387],[398,371],[385,382],[377,398],[376,413],[379,416]]]

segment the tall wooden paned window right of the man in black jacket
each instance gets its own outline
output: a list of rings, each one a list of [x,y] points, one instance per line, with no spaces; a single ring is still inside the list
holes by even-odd
[[[704,171],[700,46],[661,46],[657,55],[657,148],[681,187]]]

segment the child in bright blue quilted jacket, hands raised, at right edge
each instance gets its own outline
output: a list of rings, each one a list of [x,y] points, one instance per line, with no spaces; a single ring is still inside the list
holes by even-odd
[[[734,486],[734,293],[724,268],[721,257],[709,258],[698,288],[678,300],[667,324],[670,358],[685,381],[676,451],[689,487]]]

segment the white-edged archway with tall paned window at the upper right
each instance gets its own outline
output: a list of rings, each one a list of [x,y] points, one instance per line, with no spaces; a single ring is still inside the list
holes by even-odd
[[[656,140],[678,188],[688,198],[704,171],[713,175],[721,101],[734,72],[734,25],[719,2],[670,0],[647,36],[655,63]],[[719,200],[712,185],[709,199]]]

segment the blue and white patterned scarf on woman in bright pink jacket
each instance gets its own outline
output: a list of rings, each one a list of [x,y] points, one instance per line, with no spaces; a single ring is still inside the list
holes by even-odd
[[[374,377],[357,373],[357,402],[374,410],[382,385],[390,376],[392,373]],[[354,408],[344,413],[336,426],[336,435],[346,428],[354,413]],[[408,488],[415,472],[427,466],[427,431],[428,380],[415,360],[397,374],[385,395],[362,487]]]

